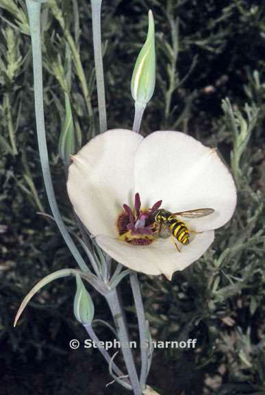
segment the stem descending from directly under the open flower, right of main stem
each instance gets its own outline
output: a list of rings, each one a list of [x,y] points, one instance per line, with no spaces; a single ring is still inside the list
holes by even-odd
[[[148,333],[147,325],[144,316],[144,306],[142,304],[142,296],[138,276],[136,272],[130,274],[131,289],[134,296],[134,303],[136,305],[136,314],[138,319],[139,335],[140,335],[140,350],[141,350],[141,374],[140,374],[140,385],[144,390],[147,381],[148,374]]]

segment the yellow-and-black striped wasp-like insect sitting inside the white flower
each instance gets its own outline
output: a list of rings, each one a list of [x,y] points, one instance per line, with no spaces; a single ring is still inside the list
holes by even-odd
[[[190,243],[190,233],[194,231],[188,230],[185,222],[178,219],[177,216],[201,218],[212,213],[214,213],[213,208],[197,208],[196,210],[180,211],[179,213],[171,213],[171,211],[166,211],[164,208],[159,208],[153,213],[153,221],[158,236],[162,239],[172,237],[173,243],[180,252],[180,248],[175,242],[174,237],[185,246]]]

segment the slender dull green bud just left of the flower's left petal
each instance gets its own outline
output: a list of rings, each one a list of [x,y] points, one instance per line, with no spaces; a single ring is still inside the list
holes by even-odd
[[[65,93],[64,97],[66,115],[59,140],[59,154],[64,165],[68,167],[70,165],[70,155],[74,155],[76,153],[77,147],[75,143],[75,127],[73,123],[70,99],[67,93]]]

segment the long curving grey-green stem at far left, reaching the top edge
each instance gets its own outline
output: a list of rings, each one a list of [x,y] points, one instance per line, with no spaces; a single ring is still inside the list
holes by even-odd
[[[42,87],[42,53],[41,53],[41,39],[40,39],[40,3],[36,3],[34,0],[26,0],[27,11],[29,15],[29,26],[31,32],[31,45],[32,45],[32,56],[33,56],[33,71],[34,71],[34,99],[35,99],[35,115],[36,115],[36,127],[38,136],[38,149],[40,152],[40,163],[42,167],[43,179],[45,182],[45,189],[51,206],[51,211],[55,219],[62,237],[66,242],[69,250],[75,257],[81,270],[88,272],[88,267],[81,257],[81,254],[77,250],[73,239],[68,233],[60,211],[58,209],[57,202],[55,200],[55,193],[53,190],[53,184],[51,181],[51,171],[49,167],[49,156],[47,150],[47,141],[45,135],[45,119],[43,110],[43,87]]]

